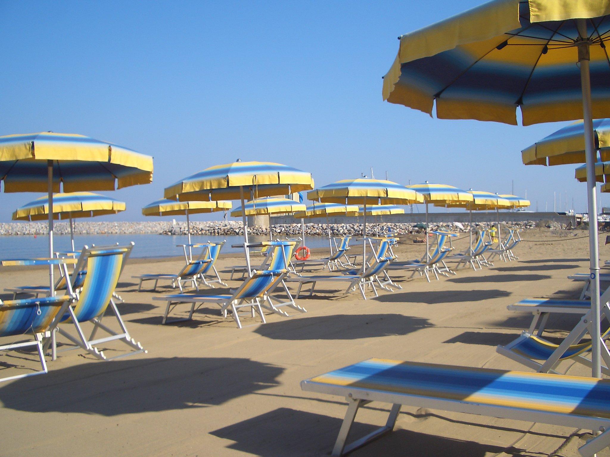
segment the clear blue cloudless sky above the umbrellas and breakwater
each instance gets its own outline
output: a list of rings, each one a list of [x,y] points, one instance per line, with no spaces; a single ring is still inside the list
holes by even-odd
[[[510,193],[514,180],[533,210],[552,210],[556,191],[584,211],[573,166],[520,160],[565,123],[447,121],[382,101],[398,35],[481,2],[0,1],[0,135],[80,133],[154,156],[151,185],[109,193],[127,202],[116,221],[237,158],[317,185],[371,166],[403,184]],[[2,193],[0,221],[40,195]]]

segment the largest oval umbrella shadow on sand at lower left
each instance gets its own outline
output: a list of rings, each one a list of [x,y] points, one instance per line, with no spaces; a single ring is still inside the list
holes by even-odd
[[[204,408],[279,385],[284,369],[246,358],[172,357],[94,362],[2,385],[4,408],[119,414]],[[230,382],[228,382],[228,380]]]

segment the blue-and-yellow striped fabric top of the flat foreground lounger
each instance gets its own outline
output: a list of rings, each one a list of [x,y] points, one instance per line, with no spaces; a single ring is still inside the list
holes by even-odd
[[[306,382],[610,418],[610,381],[594,378],[370,359]]]

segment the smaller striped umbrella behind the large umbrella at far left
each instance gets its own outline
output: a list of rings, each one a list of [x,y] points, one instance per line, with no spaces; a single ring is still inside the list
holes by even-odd
[[[70,221],[70,243],[74,252],[74,219],[117,214],[125,210],[125,202],[91,192],[54,194],[53,219]],[[29,202],[13,212],[13,221],[44,221],[49,218],[49,197]]]

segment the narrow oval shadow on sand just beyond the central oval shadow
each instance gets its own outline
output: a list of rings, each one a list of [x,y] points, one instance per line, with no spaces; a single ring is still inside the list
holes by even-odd
[[[375,297],[373,300],[390,303],[428,303],[428,305],[438,305],[439,303],[479,302],[481,300],[492,300],[510,296],[511,292],[508,291],[483,289],[470,291],[395,292]]]

